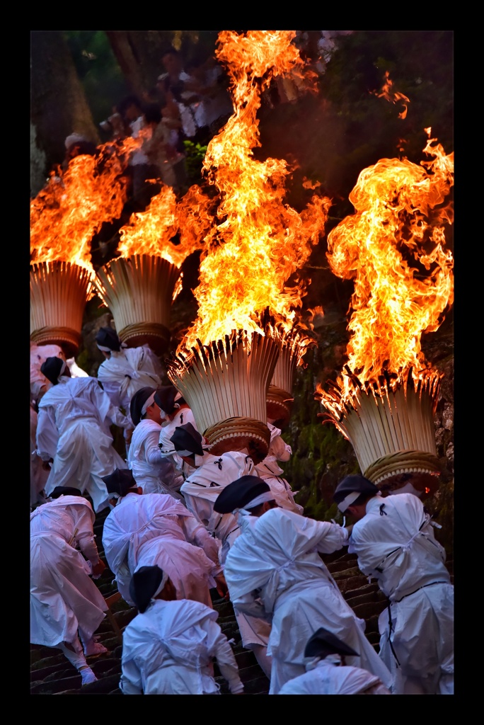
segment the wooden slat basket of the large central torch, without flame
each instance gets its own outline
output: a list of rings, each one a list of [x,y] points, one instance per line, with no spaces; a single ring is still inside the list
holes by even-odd
[[[167,374],[190,405],[214,455],[246,448],[254,463],[269,450],[266,391],[279,355],[270,336],[233,331],[167,361]]]

